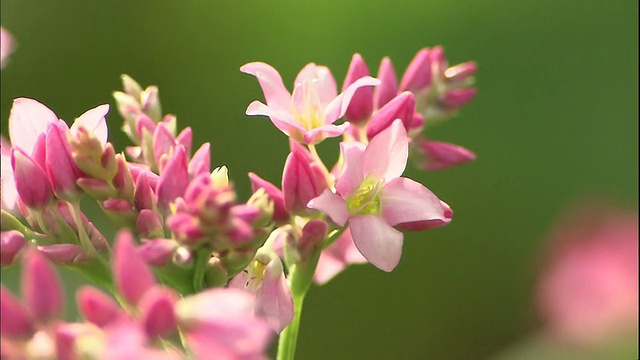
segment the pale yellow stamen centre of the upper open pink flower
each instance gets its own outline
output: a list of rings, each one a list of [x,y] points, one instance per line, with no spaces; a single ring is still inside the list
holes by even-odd
[[[318,80],[307,79],[293,90],[293,116],[306,130],[324,125],[324,109],[317,88]]]

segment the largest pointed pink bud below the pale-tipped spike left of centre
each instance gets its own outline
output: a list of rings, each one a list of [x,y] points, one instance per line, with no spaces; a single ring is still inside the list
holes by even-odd
[[[177,197],[184,194],[189,185],[189,170],[187,165],[187,155],[182,145],[176,147],[173,156],[160,174],[156,195],[158,197],[158,207],[161,210],[168,210],[169,204]]]

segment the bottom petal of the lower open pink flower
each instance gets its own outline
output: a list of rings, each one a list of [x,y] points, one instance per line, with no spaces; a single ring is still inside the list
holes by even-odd
[[[375,215],[354,216],[349,227],[356,247],[375,267],[389,272],[398,265],[404,239],[400,231]]]

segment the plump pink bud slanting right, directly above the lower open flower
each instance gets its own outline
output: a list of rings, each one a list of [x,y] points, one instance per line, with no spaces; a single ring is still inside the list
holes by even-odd
[[[367,137],[373,139],[381,131],[391,126],[394,120],[402,120],[405,129],[411,128],[416,111],[414,95],[408,91],[401,93],[376,111],[367,123]]]

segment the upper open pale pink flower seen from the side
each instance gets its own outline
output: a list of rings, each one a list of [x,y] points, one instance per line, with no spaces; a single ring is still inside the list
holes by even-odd
[[[249,104],[247,115],[268,116],[280,131],[306,144],[317,144],[327,137],[341,135],[349,124],[334,123],[347,111],[355,91],[379,84],[377,79],[362,77],[338,95],[336,81],[329,69],[310,63],[296,77],[291,94],[280,74],[268,64],[253,62],[242,66],[240,71],[258,79],[267,101],[266,105],[257,100]]]

